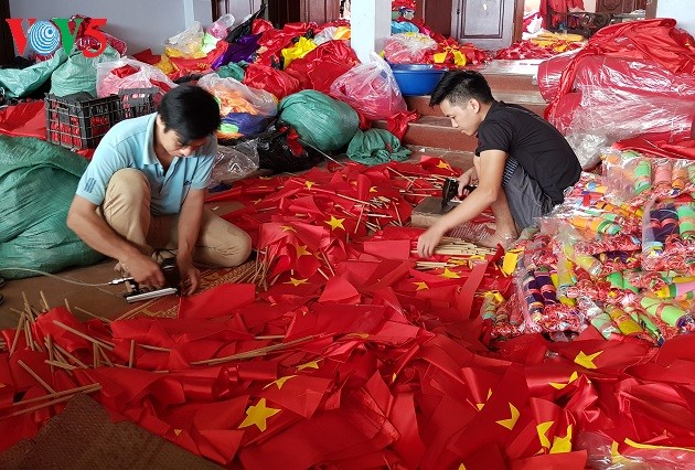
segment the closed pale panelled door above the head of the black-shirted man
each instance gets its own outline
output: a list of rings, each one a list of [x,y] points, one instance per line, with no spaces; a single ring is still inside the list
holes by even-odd
[[[512,44],[515,7],[515,0],[453,0],[451,35],[484,50],[507,47]]]

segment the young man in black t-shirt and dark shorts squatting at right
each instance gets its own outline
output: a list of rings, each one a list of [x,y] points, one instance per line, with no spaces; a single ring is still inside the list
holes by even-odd
[[[506,246],[518,229],[560,204],[564,191],[579,180],[581,167],[563,135],[532,111],[496,102],[480,73],[447,73],[429,104],[439,105],[453,128],[478,137],[473,168],[459,177],[459,195],[466,185],[478,188],[420,235],[420,256],[431,256],[448,231],[488,207],[496,228],[480,244]]]

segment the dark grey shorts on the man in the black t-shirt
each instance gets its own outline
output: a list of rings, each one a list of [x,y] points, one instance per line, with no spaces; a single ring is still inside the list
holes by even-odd
[[[543,192],[521,164],[504,184],[504,193],[514,222],[522,229],[533,225],[534,218],[546,215],[554,206],[550,196]]]

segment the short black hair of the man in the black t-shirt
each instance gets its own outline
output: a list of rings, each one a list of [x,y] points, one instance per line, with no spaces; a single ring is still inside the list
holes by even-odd
[[[462,105],[470,98],[484,104],[494,102],[485,77],[474,71],[447,72],[431,93],[429,106],[439,105],[445,99],[452,105]]]

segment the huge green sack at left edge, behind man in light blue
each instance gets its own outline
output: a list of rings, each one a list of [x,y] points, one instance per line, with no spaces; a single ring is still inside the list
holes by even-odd
[[[103,255],[65,225],[87,161],[43,140],[0,136],[0,268],[55,273]],[[0,270],[7,279],[36,274]]]

